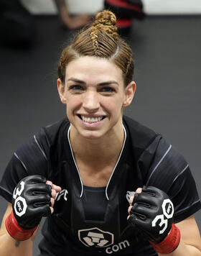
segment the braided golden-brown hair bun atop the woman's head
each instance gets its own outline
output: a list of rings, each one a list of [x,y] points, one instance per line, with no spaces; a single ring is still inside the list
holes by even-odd
[[[98,12],[98,14],[96,14],[92,29],[103,29],[108,34],[112,35],[116,40],[119,39],[116,27],[116,16],[113,14],[113,12],[108,10],[104,10],[103,12]]]

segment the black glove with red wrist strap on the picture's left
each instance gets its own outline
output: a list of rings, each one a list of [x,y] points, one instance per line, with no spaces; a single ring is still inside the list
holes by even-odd
[[[46,181],[41,175],[30,175],[14,189],[12,211],[6,218],[6,229],[14,239],[29,239],[42,216],[51,214],[52,187]]]

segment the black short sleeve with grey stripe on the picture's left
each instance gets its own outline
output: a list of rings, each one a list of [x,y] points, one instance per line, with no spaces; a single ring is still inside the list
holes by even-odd
[[[48,138],[41,129],[32,140],[14,152],[0,182],[0,195],[6,201],[11,202],[14,188],[22,178],[34,174],[47,177],[49,148]]]

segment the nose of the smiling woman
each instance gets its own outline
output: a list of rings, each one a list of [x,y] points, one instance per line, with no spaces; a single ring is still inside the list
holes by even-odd
[[[96,91],[87,91],[83,99],[83,108],[88,112],[94,112],[100,107],[98,93]]]

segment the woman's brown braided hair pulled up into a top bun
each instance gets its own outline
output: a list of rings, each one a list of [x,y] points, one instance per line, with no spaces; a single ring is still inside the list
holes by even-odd
[[[70,61],[83,56],[106,58],[123,72],[125,86],[132,81],[134,60],[131,47],[119,37],[116,16],[104,10],[98,12],[93,24],[80,32],[71,45],[62,51],[58,63],[58,77],[65,83],[65,68]]]

